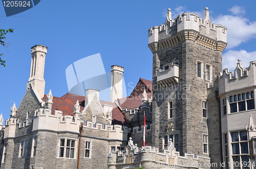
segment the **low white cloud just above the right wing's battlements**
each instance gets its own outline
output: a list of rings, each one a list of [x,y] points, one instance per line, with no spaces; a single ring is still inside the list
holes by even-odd
[[[234,71],[237,67],[238,59],[241,59],[244,64],[243,67],[247,68],[249,62],[256,60],[256,51],[228,50],[222,54],[222,69],[228,68],[229,71]]]

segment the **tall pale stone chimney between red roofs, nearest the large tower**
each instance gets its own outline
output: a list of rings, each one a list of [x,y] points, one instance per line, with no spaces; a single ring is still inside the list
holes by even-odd
[[[111,66],[111,88],[110,88],[110,102],[114,102],[116,99],[121,99],[122,81],[123,81],[123,67],[118,65]]]

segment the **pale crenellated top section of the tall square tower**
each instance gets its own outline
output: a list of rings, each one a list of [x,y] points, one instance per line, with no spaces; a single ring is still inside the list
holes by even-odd
[[[148,47],[154,53],[190,40],[222,52],[227,45],[227,28],[211,23],[208,8],[205,10],[204,19],[194,13],[183,13],[172,20],[168,9],[165,23],[148,30]]]

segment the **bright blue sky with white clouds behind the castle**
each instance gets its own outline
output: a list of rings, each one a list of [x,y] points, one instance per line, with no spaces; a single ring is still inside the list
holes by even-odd
[[[248,67],[249,61],[256,60],[255,6],[255,1],[42,0],[30,10],[6,17],[0,4],[0,29],[14,29],[6,35],[9,47],[0,46],[6,60],[6,67],[0,66],[0,113],[6,120],[13,102],[18,107],[22,100],[30,73],[30,48],[35,44],[48,46],[45,94],[50,89],[57,97],[66,94],[66,68],[96,53],[101,54],[106,72],[112,65],[124,67],[128,93],[139,77],[152,80],[147,31],[165,22],[168,8],[174,19],[184,12],[203,17],[208,7],[210,20],[228,29],[223,69],[234,70],[239,58]]]

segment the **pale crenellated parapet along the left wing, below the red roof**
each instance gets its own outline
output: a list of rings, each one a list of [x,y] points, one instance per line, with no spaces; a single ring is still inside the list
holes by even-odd
[[[34,111],[34,118],[27,119],[25,121],[19,121],[18,118],[10,118],[6,120],[5,128],[5,138],[14,137],[16,125],[19,128],[24,128],[29,125],[33,125],[32,131],[35,130],[49,130],[49,131],[68,131],[79,133],[79,126],[81,123],[78,114],[75,116],[62,115],[60,110],[55,110],[55,114],[51,114],[51,109],[49,108],[39,108]],[[33,121],[33,123],[32,123]],[[127,134],[129,128],[121,125],[105,125],[87,121],[83,125],[84,129],[92,129],[94,131],[108,132],[109,139],[120,139],[127,140]]]

